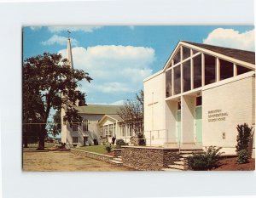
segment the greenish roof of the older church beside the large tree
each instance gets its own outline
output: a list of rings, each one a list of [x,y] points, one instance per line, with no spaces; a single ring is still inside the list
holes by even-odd
[[[117,115],[121,105],[87,105],[77,106],[76,110],[79,110],[80,114],[96,114],[96,115]]]

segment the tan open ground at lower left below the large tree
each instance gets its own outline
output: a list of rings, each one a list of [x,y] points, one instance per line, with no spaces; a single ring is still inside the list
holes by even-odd
[[[24,171],[132,171],[88,157],[75,156],[69,151],[24,151]]]

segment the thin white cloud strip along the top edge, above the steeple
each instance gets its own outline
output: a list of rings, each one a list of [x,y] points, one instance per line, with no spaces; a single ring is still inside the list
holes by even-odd
[[[48,26],[48,30],[50,32],[61,32],[61,31],[84,31],[84,32],[92,32],[96,29],[102,28],[102,26],[92,26],[92,25],[86,25],[86,26]]]

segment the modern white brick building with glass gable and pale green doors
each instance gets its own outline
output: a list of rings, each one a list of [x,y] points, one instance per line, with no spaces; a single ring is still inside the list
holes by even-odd
[[[143,83],[147,145],[235,154],[236,126],[255,125],[254,52],[181,41]]]

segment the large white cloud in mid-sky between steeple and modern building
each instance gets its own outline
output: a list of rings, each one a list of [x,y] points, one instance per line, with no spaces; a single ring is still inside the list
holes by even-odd
[[[66,57],[66,49],[60,51]],[[133,46],[105,45],[73,48],[74,68],[89,72],[94,79],[86,83],[86,93],[136,93],[143,88],[143,79],[152,74],[154,49]]]

